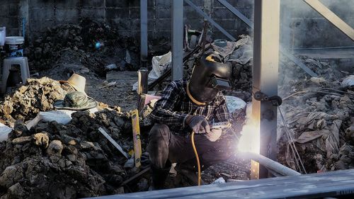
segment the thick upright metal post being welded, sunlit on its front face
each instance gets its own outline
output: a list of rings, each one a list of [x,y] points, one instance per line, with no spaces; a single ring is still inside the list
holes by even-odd
[[[253,93],[278,95],[280,0],[254,1]],[[276,159],[277,108],[268,101],[252,99],[252,117],[260,132],[260,153]],[[258,132],[258,133],[259,133]],[[253,166],[253,164],[252,164]],[[251,168],[251,173],[265,178],[264,166]],[[259,175],[257,175],[257,173]]]

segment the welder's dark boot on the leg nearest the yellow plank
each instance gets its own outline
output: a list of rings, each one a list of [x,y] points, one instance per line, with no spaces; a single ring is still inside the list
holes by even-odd
[[[150,168],[152,170],[152,185],[150,186],[149,191],[163,189],[166,178],[169,176],[171,166],[164,169],[159,169],[155,165],[151,164]]]

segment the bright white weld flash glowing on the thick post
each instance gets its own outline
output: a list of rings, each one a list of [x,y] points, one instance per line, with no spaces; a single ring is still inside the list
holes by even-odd
[[[239,152],[259,154],[260,145],[259,125],[252,118],[252,108],[248,105],[246,108],[246,123],[242,127],[238,150]]]

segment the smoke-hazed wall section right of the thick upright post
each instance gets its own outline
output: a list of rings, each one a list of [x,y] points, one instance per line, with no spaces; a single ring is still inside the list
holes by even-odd
[[[353,0],[320,0],[343,21],[354,26]],[[311,47],[353,46],[353,41],[302,0],[282,0],[280,42],[292,50]]]

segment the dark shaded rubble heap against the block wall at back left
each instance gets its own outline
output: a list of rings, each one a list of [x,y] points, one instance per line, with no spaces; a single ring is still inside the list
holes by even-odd
[[[118,36],[105,23],[84,19],[79,25],[65,23],[48,28],[30,44],[27,54],[32,71],[51,69],[62,62],[81,63],[103,76],[108,64],[116,64],[120,70],[138,69],[138,52],[132,38]]]

